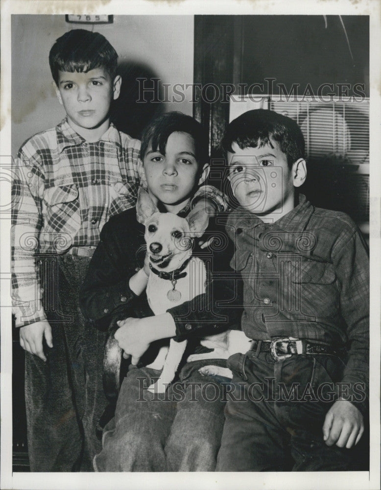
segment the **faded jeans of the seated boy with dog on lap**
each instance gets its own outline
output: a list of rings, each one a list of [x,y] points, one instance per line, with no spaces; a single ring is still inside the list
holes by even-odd
[[[161,371],[132,366],[115,417],[103,431],[96,471],[214,471],[224,424],[222,385],[198,369],[226,361],[187,363],[166,393],[143,390]],[[226,379],[226,378],[225,378]]]

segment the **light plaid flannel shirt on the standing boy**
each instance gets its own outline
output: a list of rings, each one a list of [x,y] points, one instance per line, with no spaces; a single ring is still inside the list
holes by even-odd
[[[136,204],[140,141],[111,124],[90,143],[64,119],[30,138],[14,161],[12,302],[16,326],[46,319],[36,258],[71,246],[97,245],[103,225]],[[203,186],[193,197],[227,209],[221,193]]]

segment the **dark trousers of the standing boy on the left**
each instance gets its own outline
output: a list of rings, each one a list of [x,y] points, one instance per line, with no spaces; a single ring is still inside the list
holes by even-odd
[[[49,260],[44,303],[53,347],[45,344],[46,363],[25,353],[30,469],[93,471],[92,459],[101,449],[95,427],[107,401],[102,389],[105,333],[86,324],[78,305],[90,259],[64,255]]]

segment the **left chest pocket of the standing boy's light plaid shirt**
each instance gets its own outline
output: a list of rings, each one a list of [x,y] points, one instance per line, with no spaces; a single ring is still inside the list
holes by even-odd
[[[44,228],[55,234],[73,237],[81,226],[78,187],[69,183],[50,187],[44,191]]]

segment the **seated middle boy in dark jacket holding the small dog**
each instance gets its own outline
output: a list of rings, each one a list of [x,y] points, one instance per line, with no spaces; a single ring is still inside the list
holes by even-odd
[[[236,296],[235,281],[226,278],[233,244],[226,242],[221,246],[218,260],[213,245],[201,249],[195,244],[193,255],[207,264],[205,293],[161,315],[153,316],[146,310],[144,318],[129,318],[132,306],[143,309],[139,305],[145,299],[149,274],[144,220],[137,221],[137,211],[140,217],[147,214],[144,207],[156,206],[163,212],[187,217],[188,221],[199,221],[197,212],[190,211],[190,200],[209,172],[208,144],[203,129],[193,118],[181,113],[165,114],[148,125],[143,133],[141,158],[151,206],[146,199],[145,203],[138,200],[137,210],[125,211],[104,226],[81,298],[85,315],[100,326],[110,322],[110,314],[121,320],[115,338],[125,355],[132,356],[132,365],[120,388],[115,417],[103,431],[103,449],[95,457],[94,466],[98,471],[213,471],[224,423],[224,403],[220,394],[215,396],[218,383],[198,369],[210,364],[226,366],[226,360],[186,362],[180,367],[180,383],[170,384],[163,394],[143,390],[143,385],[147,388],[160,375],[160,370],[146,367],[149,349],[155,344],[174,337],[188,339],[188,355],[196,352],[204,357],[205,348],[197,346],[197,337],[224,331],[238,322],[237,308],[218,307],[219,301],[231,303]],[[207,221],[200,227],[201,232],[206,225]],[[148,233],[160,233],[156,229],[158,224],[149,226],[152,229],[148,228]],[[204,236],[208,238],[216,233],[225,235],[223,228],[219,230],[212,223]],[[176,235],[173,240],[178,238]],[[154,242],[154,245],[160,244]],[[151,268],[159,271],[170,258],[161,257],[152,246],[147,252]],[[213,277],[217,272],[225,276],[217,280]],[[192,271],[190,285],[196,281],[194,274],[196,271]],[[167,280],[168,298],[172,293],[170,279]],[[174,286],[173,291],[176,291]],[[123,306],[120,306],[121,295]],[[142,362],[136,366],[141,358]]]

